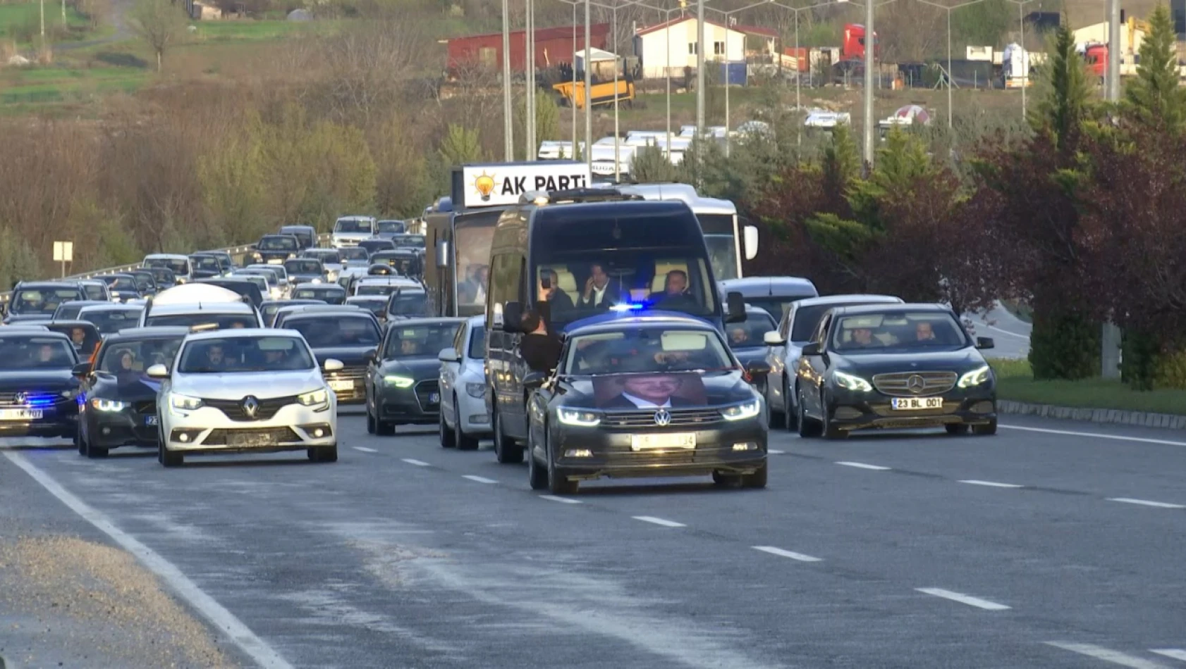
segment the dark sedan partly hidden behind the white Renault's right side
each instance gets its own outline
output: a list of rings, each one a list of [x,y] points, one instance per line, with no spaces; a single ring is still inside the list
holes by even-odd
[[[342,361],[342,369],[325,373],[339,406],[366,401],[366,354],[375,350],[381,336],[372,314],[362,309],[298,311],[285,319],[283,328],[299,332],[318,360]]]

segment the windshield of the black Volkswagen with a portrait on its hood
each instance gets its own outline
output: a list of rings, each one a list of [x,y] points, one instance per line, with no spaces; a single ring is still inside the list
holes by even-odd
[[[639,326],[573,337],[569,374],[726,369],[733,364],[720,336],[709,330]]]

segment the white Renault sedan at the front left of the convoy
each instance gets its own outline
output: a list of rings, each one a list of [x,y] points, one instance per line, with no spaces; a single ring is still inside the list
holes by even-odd
[[[340,371],[338,360],[321,362]],[[173,368],[153,365],[159,459],[186,453],[304,450],[314,462],[338,459],[338,398],[295,330],[236,329],[191,334]]]

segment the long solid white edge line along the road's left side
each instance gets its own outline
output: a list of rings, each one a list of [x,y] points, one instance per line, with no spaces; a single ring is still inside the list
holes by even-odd
[[[50,491],[63,504],[74,513],[82,516],[87,522],[98,528],[103,534],[111,538],[121,548],[132,553],[145,567],[157,574],[162,581],[177,593],[178,597],[193,606],[210,624],[227,635],[230,642],[238,647],[248,657],[266,669],[292,669],[292,664],[285,661],[279,652],[263,642],[255,632],[244,625],[234,613],[228,611],[215,598],[206,594],[202,588],[189,579],[181,570],[162,558],[152,548],[145,546],[130,534],[123,532],[111,522],[107,515],[88,506],[85,502],[68,491],[50,475],[45,474],[24,456],[17,452],[6,451],[4,453],[13,464],[25,470],[33,481],[40,483],[42,488]]]

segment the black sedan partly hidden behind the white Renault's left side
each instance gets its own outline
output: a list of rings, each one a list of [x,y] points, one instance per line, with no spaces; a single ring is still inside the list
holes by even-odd
[[[120,446],[157,446],[157,391],[145,375],[153,365],[172,365],[189,328],[132,328],[103,340],[95,366],[81,362],[82,413],[78,452],[104,457]]]

